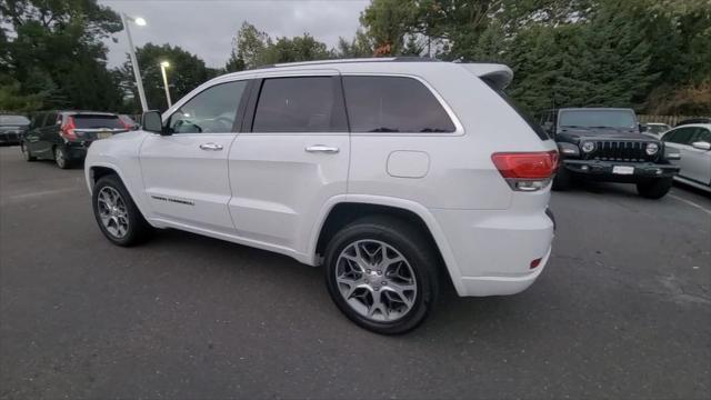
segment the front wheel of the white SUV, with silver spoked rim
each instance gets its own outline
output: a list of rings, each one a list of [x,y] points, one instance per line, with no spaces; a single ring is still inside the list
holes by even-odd
[[[151,226],[117,176],[99,179],[93,188],[92,203],[101,232],[114,244],[130,247],[150,236]]]

